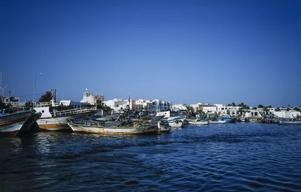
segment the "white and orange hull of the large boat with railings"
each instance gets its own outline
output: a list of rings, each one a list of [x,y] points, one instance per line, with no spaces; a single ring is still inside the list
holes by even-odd
[[[40,118],[37,120],[39,128],[41,130],[65,130],[70,129],[70,126],[67,123],[67,119],[72,118],[90,118],[96,113],[96,111],[89,111],[85,113],[71,114],[65,116],[49,117],[49,118]]]

